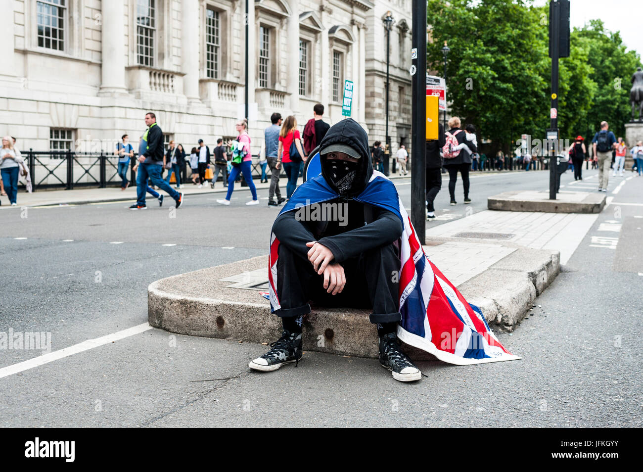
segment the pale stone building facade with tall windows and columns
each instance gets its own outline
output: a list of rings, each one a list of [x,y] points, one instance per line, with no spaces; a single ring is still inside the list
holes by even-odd
[[[0,0],[0,134],[19,149],[113,150],[156,113],[185,147],[235,135],[244,115],[246,1]],[[385,141],[390,10],[389,134],[410,144],[411,0],[250,0],[248,89],[253,154],[274,111],[300,131],[316,103]],[[6,14],[9,12],[9,14]]]

